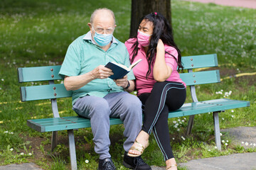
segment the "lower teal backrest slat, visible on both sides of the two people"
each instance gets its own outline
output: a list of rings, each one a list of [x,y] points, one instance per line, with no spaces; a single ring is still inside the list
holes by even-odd
[[[180,75],[187,86],[220,82],[220,72],[218,70],[182,73]],[[63,84],[21,87],[21,101],[35,101],[70,96],[72,96],[72,91],[67,91]]]

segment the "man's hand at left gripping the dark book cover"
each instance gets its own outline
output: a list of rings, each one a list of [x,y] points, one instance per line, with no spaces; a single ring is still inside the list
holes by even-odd
[[[110,77],[111,75],[113,75],[112,70],[104,65],[99,65],[91,72],[92,79],[107,79],[107,77]]]

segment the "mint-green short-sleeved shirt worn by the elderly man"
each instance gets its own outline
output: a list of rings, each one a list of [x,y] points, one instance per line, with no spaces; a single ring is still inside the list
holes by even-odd
[[[92,71],[99,65],[117,62],[129,67],[129,53],[124,43],[113,37],[110,48],[105,52],[93,43],[90,31],[74,40],[68,47],[65,59],[60,68],[61,77],[73,77]],[[133,72],[127,74],[129,80],[135,79]],[[107,94],[124,91],[110,78],[95,79],[80,89],[73,91],[72,103],[86,95],[104,97]]]

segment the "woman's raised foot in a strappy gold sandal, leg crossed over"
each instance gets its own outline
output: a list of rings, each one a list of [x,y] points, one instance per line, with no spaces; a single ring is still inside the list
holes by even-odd
[[[129,157],[139,157],[143,154],[144,149],[149,146],[149,134],[143,130],[139,132],[139,135],[136,137],[136,140],[132,147],[129,149]]]

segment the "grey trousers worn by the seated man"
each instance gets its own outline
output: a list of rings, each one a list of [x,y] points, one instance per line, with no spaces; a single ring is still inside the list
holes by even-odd
[[[142,103],[137,96],[126,91],[107,94],[104,98],[85,96],[73,105],[78,115],[90,118],[95,152],[100,159],[110,155],[110,117],[124,122],[124,150],[128,152],[137,135],[142,130]]]

